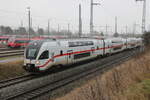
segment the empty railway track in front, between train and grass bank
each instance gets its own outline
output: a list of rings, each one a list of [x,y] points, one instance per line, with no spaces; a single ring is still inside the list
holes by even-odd
[[[120,53],[117,55],[113,55],[113,56],[104,58],[102,60],[90,62],[83,66],[81,65],[83,68],[80,70],[78,68],[76,68],[76,70],[74,70],[73,72],[65,71],[65,73],[67,73],[67,74],[60,75],[58,79],[55,79],[53,81],[47,80],[48,82],[43,83],[42,85],[40,85],[36,88],[29,88],[27,90],[20,91],[17,94],[6,96],[4,98],[4,100],[13,100],[13,99],[15,99],[15,100],[21,100],[21,99],[30,100],[30,99],[38,98],[46,93],[55,91],[67,84],[70,84],[70,83],[77,81],[88,75],[96,74],[99,72],[104,72],[105,70],[111,68],[110,66],[119,64],[119,63],[129,59],[136,53],[137,52],[135,52],[135,51]],[[92,67],[87,67],[87,66],[92,66]]]

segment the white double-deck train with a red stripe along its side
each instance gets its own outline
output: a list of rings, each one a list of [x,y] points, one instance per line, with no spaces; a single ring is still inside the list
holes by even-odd
[[[142,39],[56,39],[30,43],[25,49],[24,69],[43,72],[55,66],[76,63],[97,56],[141,47]]]

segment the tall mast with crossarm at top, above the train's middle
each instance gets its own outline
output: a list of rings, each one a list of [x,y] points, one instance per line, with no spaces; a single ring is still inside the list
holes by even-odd
[[[93,3],[93,0],[91,0],[91,9],[90,9],[90,34],[93,33],[93,28],[94,28],[94,25],[93,25],[93,6],[94,5],[100,5],[100,3]]]

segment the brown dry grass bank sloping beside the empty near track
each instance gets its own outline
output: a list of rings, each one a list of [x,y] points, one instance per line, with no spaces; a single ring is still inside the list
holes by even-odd
[[[137,55],[57,100],[150,100],[150,52]]]

